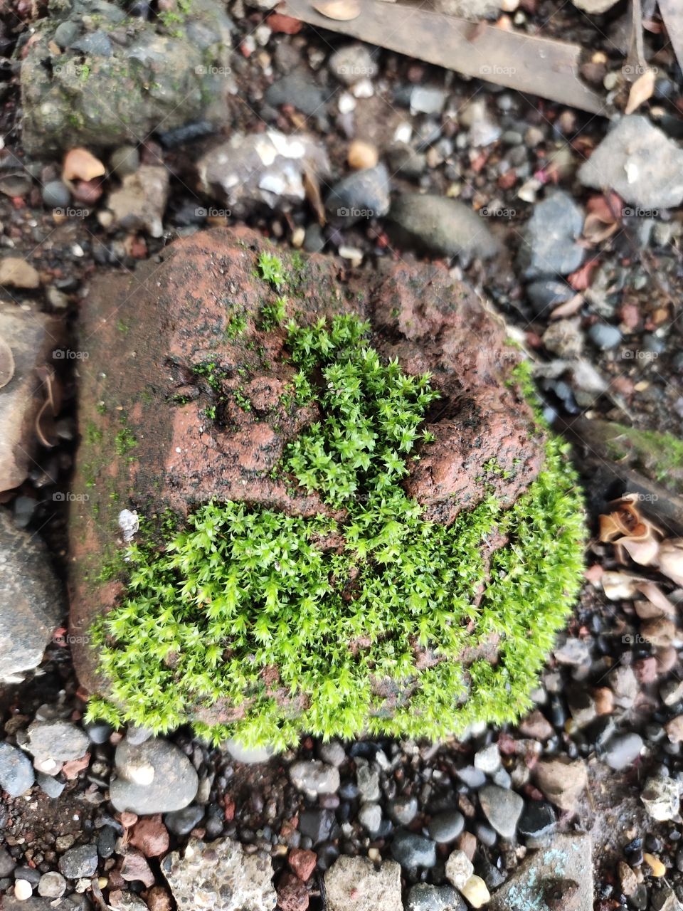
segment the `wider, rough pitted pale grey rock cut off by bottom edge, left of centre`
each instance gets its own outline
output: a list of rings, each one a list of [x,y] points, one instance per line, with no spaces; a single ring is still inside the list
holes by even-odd
[[[245,854],[231,838],[191,838],[182,857],[164,857],[161,872],[178,911],[272,911],[277,903],[270,857]]]

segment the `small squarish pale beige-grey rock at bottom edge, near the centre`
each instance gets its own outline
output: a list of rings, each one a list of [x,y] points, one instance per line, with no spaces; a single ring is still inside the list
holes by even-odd
[[[367,857],[340,857],[325,873],[326,911],[403,911],[401,867]]]

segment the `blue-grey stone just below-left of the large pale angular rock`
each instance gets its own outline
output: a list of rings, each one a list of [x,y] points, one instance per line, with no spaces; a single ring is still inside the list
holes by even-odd
[[[583,211],[562,190],[537,203],[519,251],[525,278],[568,275],[578,269],[585,251],[576,241],[583,227]]]

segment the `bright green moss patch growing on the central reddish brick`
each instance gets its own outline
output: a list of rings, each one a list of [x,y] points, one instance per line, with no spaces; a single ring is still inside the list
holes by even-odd
[[[163,732],[221,701],[244,717],[196,723],[199,734],[284,747],[303,732],[435,739],[529,707],[581,578],[575,475],[551,439],[514,507],[490,496],[450,527],[426,521],[402,480],[438,394],[429,376],[382,363],[367,328],[349,316],[288,326],[294,392],[322,417],[281,470],[343,520],[212,502],[163,551],[129,548],[126,599],[96,631],[111,700],[90,718]],[[488,566],[491,534],[509,544]],[[460,663],[492,639],[496,665]],[[424,650],[441,661],[418,666]]]

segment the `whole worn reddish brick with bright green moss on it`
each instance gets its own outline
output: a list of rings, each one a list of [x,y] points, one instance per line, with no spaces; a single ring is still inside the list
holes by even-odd
[[[93,716],[284,745],[525,710],[579,584],[581,501],[466,287],[218,230],[100,282],[83,332]]]

